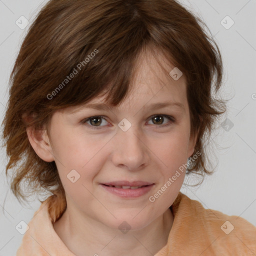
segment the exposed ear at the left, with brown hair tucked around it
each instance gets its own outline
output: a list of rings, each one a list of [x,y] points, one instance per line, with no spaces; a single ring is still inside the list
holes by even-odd
[[[31,121],[34,117],[34,114],[29,116],[26,113],[22,114],[22,119],[25,122]],[[35,153],[46,162],[54,161],[52,148],[45,125],[42,129],[35,129],[33,125],[28,126],[26,127],[26,133]]]

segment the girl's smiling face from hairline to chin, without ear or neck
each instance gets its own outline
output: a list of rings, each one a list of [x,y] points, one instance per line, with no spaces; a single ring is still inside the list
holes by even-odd
[[[104,98],[97,97],[62,109],[48,131],[67,207],[116,229],[123,221],[143,228],[168,209],[185,170],[172,176],[194,150],[185,78],[166,77],[154,59],[141,61],[119,106],[88,107],[102,106]]]

